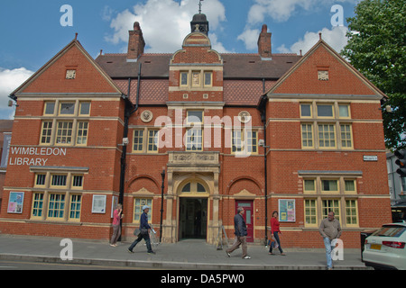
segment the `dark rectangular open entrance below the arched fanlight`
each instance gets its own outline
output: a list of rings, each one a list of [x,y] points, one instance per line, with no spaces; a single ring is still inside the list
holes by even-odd
[[[180,238],[206,238],[208,198],[180,198]]]

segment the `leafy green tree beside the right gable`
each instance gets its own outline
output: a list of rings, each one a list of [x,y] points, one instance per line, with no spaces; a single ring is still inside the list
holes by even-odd
[[[387,148],[406,148],[406,0],[364,0],[347,18],[348,44],[341,52],[388,95],[383,103]]]

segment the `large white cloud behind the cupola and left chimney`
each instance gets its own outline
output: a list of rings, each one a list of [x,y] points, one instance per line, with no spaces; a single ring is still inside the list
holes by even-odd
[[[219,23],[226,21],[226,9],[219,0],[203,4],[202,13],[208,16],[209,29],[216,31]],[[137,21],[143,30],[145,52],[176,51],[181,48],[180,43],[190,32],[190,21],[194,14],[198,14],[196,1],[147,0],[145,4],[136,4],[112,17],[110,27],[114,32],[106,36],[105,40],[114,44],[127,43],[128,31],[133,29],[133,24]],[[210,39],[214,38],[212,35],[210,32]],[[219,42],[216,44],[217,47],[223,47]],[[126,51],[126,46],[123,51]]]

